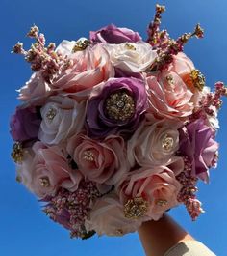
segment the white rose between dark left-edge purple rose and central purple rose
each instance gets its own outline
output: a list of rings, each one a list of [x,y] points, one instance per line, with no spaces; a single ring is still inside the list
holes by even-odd
[[[38,138],[47,144],[58,144],[77,134],[84,126],[85,101],[53,96],[41,108],[42,122]]]

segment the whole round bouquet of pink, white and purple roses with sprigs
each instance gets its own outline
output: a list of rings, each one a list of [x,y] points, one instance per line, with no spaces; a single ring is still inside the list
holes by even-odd
[[[227,90],[183,53],[201,27],[173,40],[163,12],[146,41],[112,24],[56,47],[33,26],[31,48],[13,47],[34,71],[11,119],[16,179],[72,237],[134,232],[179,204],[203,213],[196,184],[216,166]]]

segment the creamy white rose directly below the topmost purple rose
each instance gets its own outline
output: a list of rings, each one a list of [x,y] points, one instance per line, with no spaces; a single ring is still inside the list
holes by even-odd
[[[146,71],[155,61],[157,53],[149,43],[104,44],[114,67],[122,71]]]

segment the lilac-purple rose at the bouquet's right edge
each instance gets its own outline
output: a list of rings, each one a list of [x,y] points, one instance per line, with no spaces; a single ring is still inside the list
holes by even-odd
[[[196,120],[180,130],[180,153],[189,156],[192,175],[206,183],[209,181],[209,168],[214,166],[218,143],[214,140],[214,130]]]

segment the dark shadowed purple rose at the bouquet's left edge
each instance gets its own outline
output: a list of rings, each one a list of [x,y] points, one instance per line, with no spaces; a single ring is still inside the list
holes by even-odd
[[[17,107],[10,124],[13,140],[24,142],[38,139],[40,122],[36,108]]]

